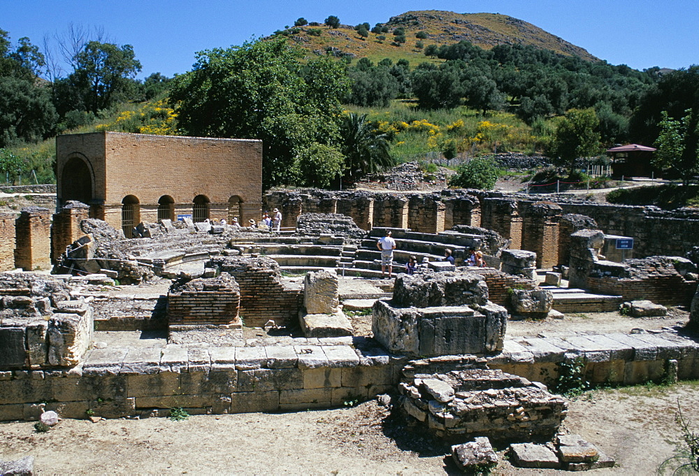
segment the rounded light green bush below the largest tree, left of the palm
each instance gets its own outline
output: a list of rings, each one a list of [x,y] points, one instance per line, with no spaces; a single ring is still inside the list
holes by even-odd
[[[301,147],[296,156],[298,185],[328,188],[343,171],[345,157],[332,145],[314,142]]]

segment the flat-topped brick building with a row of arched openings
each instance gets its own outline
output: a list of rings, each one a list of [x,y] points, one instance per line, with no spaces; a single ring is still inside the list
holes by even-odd
[[[260,216],[261,140],[66,134],[56,161],[57,211],[80,201],[127,238],[139,222]]]

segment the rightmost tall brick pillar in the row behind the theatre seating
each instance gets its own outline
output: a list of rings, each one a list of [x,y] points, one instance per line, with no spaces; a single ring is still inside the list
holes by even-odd
[[[562,209],[551,202],[520,203],[521,249],[536,253],[538,268],[551,268],[559,262],[559,219]]]

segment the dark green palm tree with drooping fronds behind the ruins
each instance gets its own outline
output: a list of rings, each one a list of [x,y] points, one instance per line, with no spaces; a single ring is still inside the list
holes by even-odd
[[[340,124],[345,155],[345,178],[356,181],[369,173],[377,173],[396,164],[389,154],[389,136],[373,128],[366,114],[349,113]]]

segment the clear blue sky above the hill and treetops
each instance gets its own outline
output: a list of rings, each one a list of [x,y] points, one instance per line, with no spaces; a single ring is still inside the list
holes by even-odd
[[[66,31],[71,22],[103,27],[119,45],[134,46],[140,77],[189,71],[194,52],[240,45],[298,17],[345,24],[386,22],[408,10],[502,13],[585,48],[612,64],[643,69],[699,64],[698,0],[0,0],[0,29],[11,40]]]

